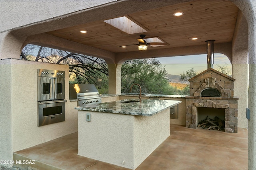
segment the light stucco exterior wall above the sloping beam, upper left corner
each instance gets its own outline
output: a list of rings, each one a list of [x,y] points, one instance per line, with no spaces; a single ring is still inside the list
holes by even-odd
[[[115,0],[1,0],[0,23],[4,24],[0,25],[0,31],[47,20],[112,1]],[[8,10],[6,10],[6,7],[9,7]]]

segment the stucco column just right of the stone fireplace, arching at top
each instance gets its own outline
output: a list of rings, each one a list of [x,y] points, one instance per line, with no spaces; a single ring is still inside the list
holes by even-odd
[[[238,127],[247,128],[245,115],[248,107],[248,24],[242,14],[238,12],[236,28],[232,42],[232,78],[234,82],[234,96],[238,100]]]

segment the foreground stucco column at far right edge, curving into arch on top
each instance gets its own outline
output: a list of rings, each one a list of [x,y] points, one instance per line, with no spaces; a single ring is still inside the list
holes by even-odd
[[[249,89],[248,108],[248,170],[256,169],[256,1],[231,0],[244,14],[248,23]]]

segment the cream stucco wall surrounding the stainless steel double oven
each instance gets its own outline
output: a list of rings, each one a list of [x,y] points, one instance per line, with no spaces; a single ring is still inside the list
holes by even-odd
[[[0,78],[0,94],[6,96],[0,106],[1,160],[12,160],[12,152],[78,131],[76,102],[69,102],[68,86],[65,86],[65,99],[68,100],[65,121],[37,126],[37,69],[64,70],[65,84],[68,85],[68,65],[6,59],[0,61],[0,67],[1,75],[4,74]],[[7,140],[2,140],[3,136],[8,136]]]

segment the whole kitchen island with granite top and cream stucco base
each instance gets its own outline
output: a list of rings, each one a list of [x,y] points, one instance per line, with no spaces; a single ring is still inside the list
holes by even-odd
[[[78,109],[78,155],[137,168],[168,136],[177,100],[118,100]]]

